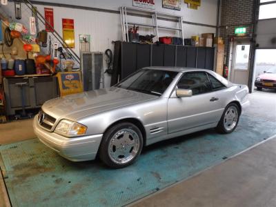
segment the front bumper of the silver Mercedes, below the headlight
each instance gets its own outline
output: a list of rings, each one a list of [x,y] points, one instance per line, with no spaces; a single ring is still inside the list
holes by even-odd
[[[48,132],[39,126],[37,116],[33,121],[34,133],[39,140],[70,161],[86,161],[95,159],[103,135],[83,137],[63,137],[55,132]]]

